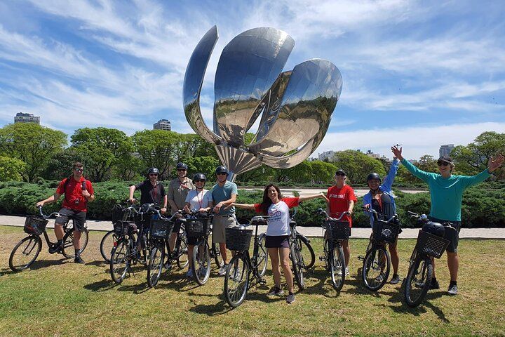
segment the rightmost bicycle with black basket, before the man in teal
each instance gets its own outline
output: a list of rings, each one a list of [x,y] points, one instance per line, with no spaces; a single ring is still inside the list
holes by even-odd
[[[419,223],[429,222],[425,214],[419,215],[411,211],[408,211],[408,214],[412,218],[417,218]],[[457,231],[450,222],[442,225],[445,230]],[[449,244],[449,240],[444,237],[419,230],[414,251],[410,256],[408,274],[403,284],[403,295],[409,307],[417,307],[426,297],[433,277],[433,258],[440,258]]]

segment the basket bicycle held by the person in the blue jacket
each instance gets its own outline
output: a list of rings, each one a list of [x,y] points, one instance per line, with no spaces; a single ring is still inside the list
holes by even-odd
[[[397,214],[384,221],[379,220],[377,211],[365,207],[363,207],[363,210],[372,213],[374,226],[365,257],[358,256],[359,260],[363,260],[361,279],[368,290],[378,291],[386,284],[391,271],[391,256],[389,256],[386,245],[396,242],[401,227],[398,224]]]

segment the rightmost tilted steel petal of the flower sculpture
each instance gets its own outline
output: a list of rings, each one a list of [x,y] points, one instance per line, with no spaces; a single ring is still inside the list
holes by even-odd
[[[342,75],[331,62],[313,59],[300,63],[292,70],[280,108],[264,112],[267,119],[262,119],[257,141],[249,150],[280,157],[311,143],[322,128],[328,128],[341,91]]]

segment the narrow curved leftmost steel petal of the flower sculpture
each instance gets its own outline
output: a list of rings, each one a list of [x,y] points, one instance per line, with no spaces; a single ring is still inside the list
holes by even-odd
[[[217,144],[221,137],[210,130],[203,121],[200,110],[200,92],[203,76],[206,72],[210,54],[217,42],[217,27],[214,26],[202,37],[189,58],[189,63],[184,75],[182,98],[184,100],[184,114],[193,130],[205,138],[209,143]]]

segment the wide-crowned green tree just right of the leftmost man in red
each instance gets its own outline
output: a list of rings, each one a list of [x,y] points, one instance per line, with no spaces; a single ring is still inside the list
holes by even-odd
[[[132,140],[116,128],[79,128],[71,140],[72,150],[94,182],[109,178],[112,167],[127,160],[133,152]]]

